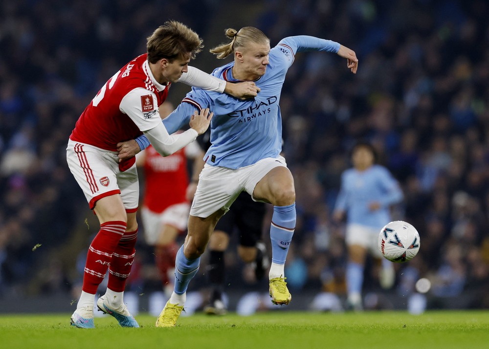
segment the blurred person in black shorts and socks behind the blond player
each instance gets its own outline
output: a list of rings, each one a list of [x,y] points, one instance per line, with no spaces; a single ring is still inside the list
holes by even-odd
[[[209,149],[210,130],[197,137],[202,149]],[[204,161],[201,161],[201,168]],[[200,171],[195,171],[192,184],[197,188]],[[236,231],[239,245],[238,255],[245,263],[251,263],[255,279],[262,280],[269,266],[267,247],[261,241],[263,220],[267,210],[266,203],[253,201],[251,196],[241,193],[229,211],[222,216],[216,224],[208,245],[209,261],[207,264],[207,279],[210,284],[210,298],[204,306],[204,312],[209,315],[223,315],[227,311],[226,302],[223,297],[224,283],[226,279],[226,266],[224,252],[229,246],[231,235]]]

